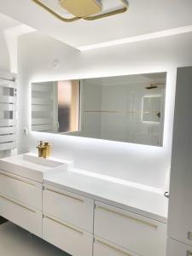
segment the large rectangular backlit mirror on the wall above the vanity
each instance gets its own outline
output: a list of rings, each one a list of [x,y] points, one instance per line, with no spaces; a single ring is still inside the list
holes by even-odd
[[[166,73],[32,83],[32,131],[162,146]]]

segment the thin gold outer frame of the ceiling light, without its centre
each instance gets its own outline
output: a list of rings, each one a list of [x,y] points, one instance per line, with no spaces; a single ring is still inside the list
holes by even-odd
[[[87,16],[84,18],[81,17],[73,17],[73,18],[65,18],[62,17],[61,15],[58,15],[54,10],[50,9],[46,4],[42,3],[41,0],[32,0],[34,3],[37,3],[40,7],[44,8],[45,10],[47,10],[51,15],[54,15],[57,19],[61,20],[61,21],[65,21],[65,22],[73,22],[76,20],[100,20],[103,18],[107,18],[113,15],[120,15],[125,13],[128,9],[129,9],[129,4],[125,2],[125,0],[119,0],[121,3],[123,3],[124,7],[121,9],[116,9],[113,11],[110,11],[108,13],[104,13],[102,15],[94,15],[94,16]]]

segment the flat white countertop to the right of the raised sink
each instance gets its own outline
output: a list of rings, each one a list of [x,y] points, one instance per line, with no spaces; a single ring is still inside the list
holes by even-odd
[[[44,183],[167,223],[168,199],[163,193],[91,177],[78,169],[45,177]]]

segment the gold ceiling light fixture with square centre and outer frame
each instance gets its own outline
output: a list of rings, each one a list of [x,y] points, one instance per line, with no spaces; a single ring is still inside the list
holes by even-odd
[[[42,8],[49,11],[50,14],[55,15],[56,18],[65,21],[73,22],[75,20],[99,20],[113,15],[123,14],[128,10],[129,3],[127,0],[118,0],[122,7],[111,10],[103,10],[102,1],[105,0],[55,0],[61,11],[66,10],[68,15],[72,17],[65,17],[61,12],[57,12],[44,0],[32,0]]]

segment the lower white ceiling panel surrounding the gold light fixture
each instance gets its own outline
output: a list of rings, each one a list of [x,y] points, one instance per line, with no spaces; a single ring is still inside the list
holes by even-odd
[[[112,0],[103,1],[108,4]],[[73,23],[57,20],[32,0],[1,0],[0,12],[75,48],[192,25],[191,0],[130,0],[129,3],[129,12],[123,15]]]

